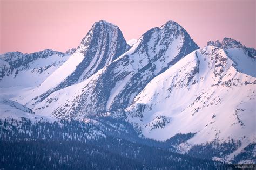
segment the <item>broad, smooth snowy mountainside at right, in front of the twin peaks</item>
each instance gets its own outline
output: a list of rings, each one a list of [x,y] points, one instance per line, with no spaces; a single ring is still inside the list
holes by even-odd
[[[235,66],[244,69],[242,63]],[[248,144],[256,139],[255,84],[223,49],[206,46],[154,78],[125,111],[145,137],[193,132],[192,145],[231,138]]]

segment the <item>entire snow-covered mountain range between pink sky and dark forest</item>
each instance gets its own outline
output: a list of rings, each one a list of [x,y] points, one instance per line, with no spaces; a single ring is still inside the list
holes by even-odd
[[[0,116],[135,129],[181,153],[211,148],[209,159],[244,161],[256,148],[255,55],[232,38],[199,49],[173,21],[126,42],[100,20],[66,53],[0,55]]]

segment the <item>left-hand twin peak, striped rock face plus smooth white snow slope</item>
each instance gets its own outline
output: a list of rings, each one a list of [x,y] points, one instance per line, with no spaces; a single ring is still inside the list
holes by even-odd
[[[23,99],[35,104],[54,91],[86,80],[129,49],[119,27],[100,20],[93,24],[69,60]],[[32,100],[32,101],[31,101]]]

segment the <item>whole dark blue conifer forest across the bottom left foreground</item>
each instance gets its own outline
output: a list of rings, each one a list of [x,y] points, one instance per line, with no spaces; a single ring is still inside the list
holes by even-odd
[[[122,128],[122,126],[120,126]],[[106,134],[80,121],[0,121],[0,169],[227,169],[232,165],[194,158]],[[118,133],[117,131],[115,133]],[[189,138],[193,134],[184,136]],[[166,141],[180,143],[182,134]],[[140,139],[143,140],[143,139]],[[157,141],[155,141],[157,143]],[[169,142],[169,143],[168,143]],[[159,146],[161,146],[159,144]],[[170,145],[169,145],[170,146]]]

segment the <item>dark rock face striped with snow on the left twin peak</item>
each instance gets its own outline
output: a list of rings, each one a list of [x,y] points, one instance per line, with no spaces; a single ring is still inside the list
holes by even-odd
[[[104,20],[96,22],[77,48],[77,52],[84,56],[82,62],[57,89],[87,79],[129,48],[119,27]]]

